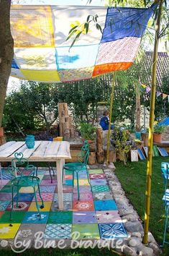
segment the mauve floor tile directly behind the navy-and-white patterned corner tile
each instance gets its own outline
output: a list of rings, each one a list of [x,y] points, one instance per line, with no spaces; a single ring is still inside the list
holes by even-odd
[[[122,223],[118,210],[96,211],[98,223]]]

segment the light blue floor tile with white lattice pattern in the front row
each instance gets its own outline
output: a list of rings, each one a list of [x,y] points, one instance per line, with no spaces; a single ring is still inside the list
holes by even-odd
[[[60,239],[71,237],[72,224],[47,224],[45,229],[45,239]]]

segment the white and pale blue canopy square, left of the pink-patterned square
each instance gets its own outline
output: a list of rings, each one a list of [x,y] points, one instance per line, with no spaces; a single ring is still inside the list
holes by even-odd
[[[55,48],[57,69],[80,69],[93,67],[99,45]]]

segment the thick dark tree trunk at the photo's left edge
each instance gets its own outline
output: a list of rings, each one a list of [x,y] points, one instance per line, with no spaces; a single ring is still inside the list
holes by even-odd
[[[14,40],[10,30],[11,1],[0,1],[0,127],[4,111],[6,89],[14,56]]]

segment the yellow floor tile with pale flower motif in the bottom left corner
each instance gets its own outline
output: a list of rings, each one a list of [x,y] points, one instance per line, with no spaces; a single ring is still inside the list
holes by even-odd
[[[21,224],[0,224],[0,239],[14,239]]]

